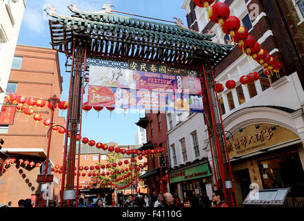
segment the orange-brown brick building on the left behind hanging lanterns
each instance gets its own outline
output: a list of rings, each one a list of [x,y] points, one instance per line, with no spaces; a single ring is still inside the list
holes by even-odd
[[[8,80],[7,94],[17,93],[26,97],[48,100],[56,93],[60,99],[62,77],[59,69],[58,52],[50,48],[17,45],[14,61]],[[50,109],[44,106],[39,111],[33,107],[34,113],[41,113],[43,119],[50,119]],[[58,108],[54,111],[54,122],[65,125],[65,119],[59,117]],[[41,184],[37,183],[39,168],[19,164],[19,159],[30,162],[44,162],[48,148],[46,128],[42,121],[37,123],[30,115],[18,111],[14,116],[13,125],[1,125],[0,137],[3,139],[1,152],[17,160],[0,174],[0,202],[18,206],[20,199],[32,198],[34,206],[41,197]],[[52,134],[50,146],[50,162],[52,166],[61,164],[64,136]],[[60,176],[55,175],[52,182],[52,198],[59,194]]]

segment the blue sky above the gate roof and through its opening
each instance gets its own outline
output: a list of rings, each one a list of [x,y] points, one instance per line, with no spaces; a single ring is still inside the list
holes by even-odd
[[[26,10],[23,16],[23,22],[19,32],[17,44],[41,46],[50,48],[50,28],[48,26],[48,17],[43,8],[52,6],[57,8],[60,15],[70,15],[67,6],[70,3],[77,4],[79,10],[98,11],[101,10],[103,3],[111,3],[114,10],[128,12],[145,17],[154,17],[168,21],[175,21],[173,17],[183,20],[184,26],[187,26],[186,10],[181,9],[184,0],[26,0]],[[119,14],[121,15],[121,14]],[[63,76],[63,93],[61,100],[68,99],[70,75],[65,73],[65,55],[59,53],[61,66],[61,75]],[[88,95],[84,95],[84,102],[88,100]],[[61,115],[61,111],[60,111]],[[64,113],[66,116],[66,111]],[[106,109],[100,112],[97,118],[97,111],[93,109],[86,115],[83,111],[82,137],[88,137],[96,142],[117,142],[118,144],[134,144],[135,132],[139,117],[144,117],[144,112],[139,113],[116,113],[113,111],[112,117]]]

